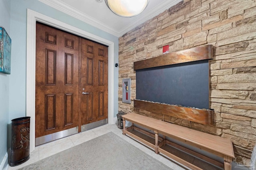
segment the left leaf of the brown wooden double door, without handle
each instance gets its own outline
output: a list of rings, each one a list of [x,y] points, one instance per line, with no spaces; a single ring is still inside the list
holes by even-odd
[[[36,137],[78,126],[78,62],[79,37],[36,24]]]

